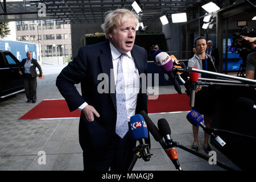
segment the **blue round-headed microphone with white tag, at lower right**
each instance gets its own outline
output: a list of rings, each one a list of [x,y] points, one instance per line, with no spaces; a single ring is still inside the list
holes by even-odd
[[[201,126],[201,128],[203,128],[206,133],[213,137],[218,142],[218,144],[221,145],[221,147],[225,146],[226,143],[224,142],[224,140],[218,137],[218,135],[213,134],[211,129],[202,123],[204,121],[204,118],[201,116],[201,114],[197,113],[197,111],[191,110],[187,114],[187,119],[193,126]]]

